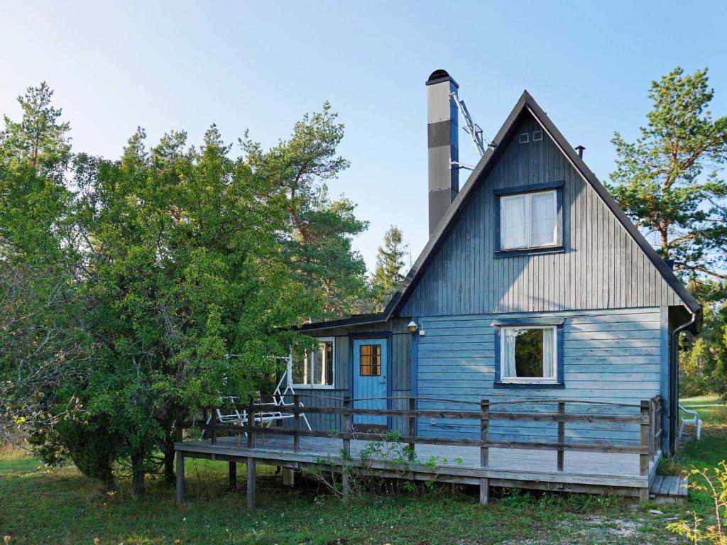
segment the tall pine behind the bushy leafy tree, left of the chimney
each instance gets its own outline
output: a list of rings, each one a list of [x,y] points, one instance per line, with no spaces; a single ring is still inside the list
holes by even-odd
[[[281,230],[286,259],[297,280],[321,302],[313,318],[350,314],[366,288],[366,264],[352,239],[368,227],[347,198],[332,199],[327,182],[348,169],[337,155],[343,125],[326,102],[319,113],[298,121],[289,140],[263,151],[242,141],[256,175],[276,180],[288,218]]]

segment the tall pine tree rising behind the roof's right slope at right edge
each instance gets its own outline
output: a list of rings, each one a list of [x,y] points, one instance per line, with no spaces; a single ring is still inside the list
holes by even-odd
[[[640,137],[616,132],[616,171],[609,190],[644,232],[659,239],[662,257],[686,278],[727,278],[727,116],[713,119],[707,69],[675,68],[654,81],[653,108]]]

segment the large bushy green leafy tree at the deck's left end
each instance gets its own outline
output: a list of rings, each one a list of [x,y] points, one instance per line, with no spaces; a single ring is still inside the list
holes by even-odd
[[[318,306],[277,243],[276,180],[231,158],[214,126],[199,150],[184,133],[148,149],[139,131],[120,161],[82,158],[77,179],[87,319],[103,347],[81,399],[122,437],[138,494],[157,451],[173,476],[177,414],[254,392]]]

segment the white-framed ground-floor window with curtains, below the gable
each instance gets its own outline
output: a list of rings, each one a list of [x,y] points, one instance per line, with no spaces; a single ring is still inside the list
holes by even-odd
[[[556,382],[557,328],[513,326],[500,331],[500,382]]]

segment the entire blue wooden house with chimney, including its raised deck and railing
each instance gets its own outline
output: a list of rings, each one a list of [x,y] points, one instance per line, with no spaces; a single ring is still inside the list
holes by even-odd
[[[274,406],[212,411],[198,440],[178,422],[178,501],[186,457],[228,461],[230,485],[246,463],[251,507],[256,464],[292,483],[321,460],[344,495],[362,468],[482,502],[491,486],[686,494],[656,467],[699,304],[527,92],[459,190],[456,93],[443,70],[427,81],[430,238],[384,312],[302,326],[318,350]],[[367,441],[409,445],[408,462],[358,456]]]

